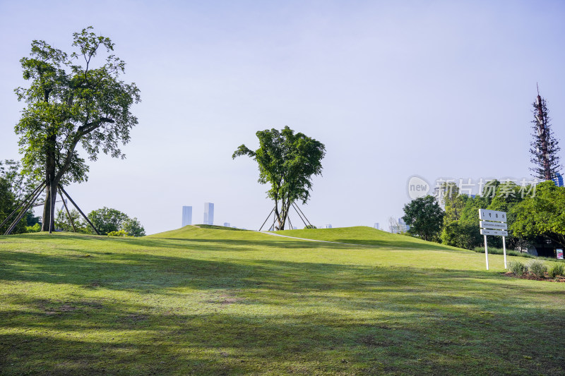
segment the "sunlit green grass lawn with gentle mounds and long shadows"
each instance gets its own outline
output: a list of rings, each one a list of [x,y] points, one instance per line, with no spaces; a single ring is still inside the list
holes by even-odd
[[[0,374],[565,373],[565,284],[367,227],[283,234],[356,245],[0,236]]]

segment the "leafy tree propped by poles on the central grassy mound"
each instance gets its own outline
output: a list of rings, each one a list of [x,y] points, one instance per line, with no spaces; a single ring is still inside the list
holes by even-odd
[[[294,133],[288,126],[282,131],[258,131],[256,135],[257,150],[241,145],[232,158],[248,155],[257,162],[259,183],[270,184],[267,195],[275,201],[275,229],[284,230],[292,203],[306,203],[309,199],[312,176],[321,175],[326,147],[303,133]]]

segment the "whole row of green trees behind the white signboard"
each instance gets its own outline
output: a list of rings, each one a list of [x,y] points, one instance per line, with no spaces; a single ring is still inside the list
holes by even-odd
[[[439,190],[441,210],[431,195],[412,200],[404,206],[403,220],[410,225],[408,234],[459,248],[473,249],[484,244],[480,234],[479,209],[508,213],[511,249],[534,244],[565,246],[565,188],[553,181],[518,186],[513,181],[489,181],[482,195],[460,194],[458,187],[444,184]],[[488,245],[502,246],[500,236],[487,236]]]

